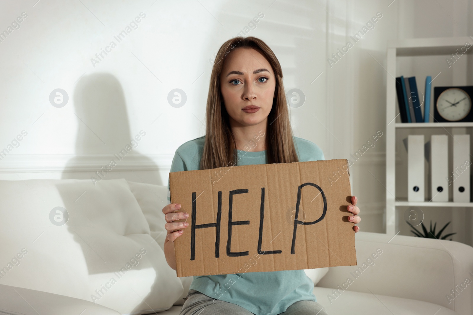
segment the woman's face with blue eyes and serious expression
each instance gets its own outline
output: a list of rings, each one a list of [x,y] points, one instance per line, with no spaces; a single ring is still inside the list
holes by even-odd
[[[276,79],[268,60],[253,48],[231,51],[220,74],[220,89],[232,127],[266,127]]]

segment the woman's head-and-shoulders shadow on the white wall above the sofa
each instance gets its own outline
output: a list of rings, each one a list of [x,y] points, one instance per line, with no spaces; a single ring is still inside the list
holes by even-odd
[[[112,160],[123,171],[133,168],[120,167],[123,166],[120,165],[122,159],[139,161],[157,169],[151,159],[135,149],[140,146],[140,141],[136,139],[141,138],[142,134],[138,130],[131,134],[123,88],[116,77],[108,73],[82,77],[74,91],[74,113],[78,120],[76,156],[66,163],[62,179],[90,179],[93,176],[101,180],[97,171],[101,172],[103,179],[125,177],[123,173],[122,176],[114,174],[117,169],[114,169]],[[100,161],[100,166],[96,170],[83,171],[97,161]],[[107,169],[110,170],[108,173]],[[136,174],[131,173],[130,176],[126,179],[141,182]],[[153,182],[163,185],[158,176]]]

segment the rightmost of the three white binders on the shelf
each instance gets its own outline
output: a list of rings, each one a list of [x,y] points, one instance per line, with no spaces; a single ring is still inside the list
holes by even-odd
[[[453,137],[453,201],[470,202],[470,135]]]

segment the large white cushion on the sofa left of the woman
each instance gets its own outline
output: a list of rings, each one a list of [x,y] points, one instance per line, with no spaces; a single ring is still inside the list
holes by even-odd
[[[1,180],[0,200],[2,284],[122,314],[166,310],[183,294],[125,179]],[[58,206],[69,213],[61,226],[50,221]]]

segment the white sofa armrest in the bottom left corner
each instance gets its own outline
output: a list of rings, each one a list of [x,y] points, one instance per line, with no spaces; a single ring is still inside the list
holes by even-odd
[[[0,314],[120,315],[105,306],[79,298],[0,284]]]

